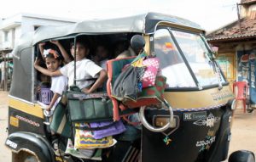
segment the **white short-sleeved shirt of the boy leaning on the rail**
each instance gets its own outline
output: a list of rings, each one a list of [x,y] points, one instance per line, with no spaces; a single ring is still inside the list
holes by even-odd
[[[68,77],[68,86],[73,85],[74,79],[74,61],[66,64],[61,69],[61,74]],[[97,74],[102,70],[102,67],[95,64],[90,59],[81,59],[76,62],[76,78],[77,79],[90,79],[96,78]],[[83,89],[89,87],[94,81],[77,81],[76,85]]]

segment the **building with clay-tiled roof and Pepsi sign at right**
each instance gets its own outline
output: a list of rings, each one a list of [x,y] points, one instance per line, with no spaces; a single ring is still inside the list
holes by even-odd
[[[207,35],[207,41],[218,47],[218,63],[227,79],[247,81],[251,107],[256,107],[256,0],[241,0],[238,20]]]

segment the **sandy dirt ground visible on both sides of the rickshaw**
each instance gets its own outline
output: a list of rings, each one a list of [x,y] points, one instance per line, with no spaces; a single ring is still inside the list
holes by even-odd
[[[4,146],[8,123],[8,92],[0,91],[0,162],[11,161],[11,154]],[[247,149],[256,154],[256,110],[252,114],[244,114],[236,109],[232,127],[230,153],[239,149]]]

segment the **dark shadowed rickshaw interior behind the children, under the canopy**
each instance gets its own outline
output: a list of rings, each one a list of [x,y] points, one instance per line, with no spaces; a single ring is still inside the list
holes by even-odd
[[[129,56],[137,55],[136,51],[131,49],[131,44],[130,44],[131,37],[137,34],[138,33],[120,33],[120,34],[103,34],[103,35],[79,34],[79,36],[76,36],[76,39],[84,41],[88,44],[90,52],[86,56],[86,58],[95,61],[96,64],[98,65],[101,65],[100,62],[102,61],[102,59],[108,60],[108,59],[115,59],[117,57],[129,57]],[[55,44],[49,42],[51,40],[58,41],[61,43],[62,47],[65,48],[69,57],[73,59],[73,55],[71,54],[71,47],[74,42],[74,37],[75,36],[66,36],[61,38],[45,40],[43,41],[45,42],[44,49],[51,48],[56,50],[58,53],[61,53],[60,49],[56,47]],[[40,54],[40,51],[39,51],[38,44],[35,46],[35,58],[38,57],[38,59],[43,60],[42,55]],[[104,56],[99,54],[103,54]],[[40,65],[46,68],[44,62],[41,62]],[[106,69],[106,64],[103,66],[104,66],[103,68]],[[35,81],[35,83],[41,80],[40,78],[41,73],[39,71],[36,71],[36,72],[37,72],[37,75],[35,78],[37,81]],[[45,79],[45,80],[49,81],[49,77],[48,79]],[[37,91],[37,88],[35,88],[35,90]],[[37,93],[36,91],[35,91],[35,94]],[[36,100],[38,100],[38,97],[35,98],[35,101]]]

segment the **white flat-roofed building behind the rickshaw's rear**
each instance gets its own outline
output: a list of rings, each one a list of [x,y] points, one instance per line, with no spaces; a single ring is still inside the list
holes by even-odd
[[[8,89],[11,80],[11,52],[23,33],[35,31],[42,25],[71,25],[78,20],[55,18],[39,14],[16,14],[0,19],[0,62],[5,62],[4,90]],[[0,75],[1,77],[1,75]]]

